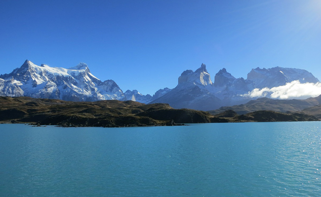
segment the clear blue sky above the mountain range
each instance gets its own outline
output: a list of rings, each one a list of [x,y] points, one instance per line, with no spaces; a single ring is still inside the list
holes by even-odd
[[[321,0],[0,0],[0,73],[26,59],[151,95],[201,63],[212,80],[274,66],[321,80]]]

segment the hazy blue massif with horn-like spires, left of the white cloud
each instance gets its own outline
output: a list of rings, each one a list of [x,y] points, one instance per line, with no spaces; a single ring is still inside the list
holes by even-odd
[[[215,75],[212,83],[206,66],[202,64],[195,72],[185,70],[174,89],[151,103],[164,102],[174,108],[209,110],[222,105],[246,102],[248,98],[238,95],[252,89],[252,81],[236,79],[225,68]]]

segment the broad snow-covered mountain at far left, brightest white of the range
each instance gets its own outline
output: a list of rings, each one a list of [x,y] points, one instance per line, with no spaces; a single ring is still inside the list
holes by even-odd
[[[0,75],[0,95],[72,101],[124,99],[115,81],[100,81],[84,63],[66,69],[37,66],[28,60],[11,73]]]

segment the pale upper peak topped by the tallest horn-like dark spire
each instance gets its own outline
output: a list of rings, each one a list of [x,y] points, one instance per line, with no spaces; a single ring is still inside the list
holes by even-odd
[[[195,72],[193,72],[193,70],[185,70],[181,76],[178,77],[178,84],[207,86],[212,85],[212,81],[206,70],[206,66],[201,64],[201,67]]]

